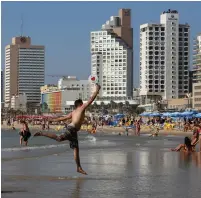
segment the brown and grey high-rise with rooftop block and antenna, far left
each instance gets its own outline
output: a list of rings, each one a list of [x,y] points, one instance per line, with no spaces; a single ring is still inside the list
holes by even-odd
[[[45,78],[45,47],[32,45],[30,37],[14,37],[5,48],[5,103],[13,95],[26,94],[27,103],[40,103]]]

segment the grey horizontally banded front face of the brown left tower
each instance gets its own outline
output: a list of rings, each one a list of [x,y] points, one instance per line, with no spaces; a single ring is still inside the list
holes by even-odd
[[[28,102],[40,102],[40,87],[44,85],[44,77],[44,49],[19,49],[19,94],[26,93]]]

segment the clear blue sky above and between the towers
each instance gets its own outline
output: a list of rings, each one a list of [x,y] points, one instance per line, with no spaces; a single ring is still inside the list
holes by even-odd
[[[201,32],[201,2],[2,2],[1,67],[5,65],[5,46],[21,34],[32,44],[45,45],[45,81],[56,83],[48,75],[71,75],[88,79],[90,75],[90,32],[101,29],[120,8],[132,10],[134,31],[134,86],[139,85],[140,25],[159,23],[160,14],[178,10],[180,23],[191,26],[193,38]]]

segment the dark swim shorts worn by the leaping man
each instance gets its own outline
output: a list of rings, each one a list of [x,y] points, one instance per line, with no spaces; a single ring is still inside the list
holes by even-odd
[[[77,136],[77,129],[73,126],[67,126],[66,132],[62,134],[62,136],[69,140],[70,148],[78,148],[78,136]]]

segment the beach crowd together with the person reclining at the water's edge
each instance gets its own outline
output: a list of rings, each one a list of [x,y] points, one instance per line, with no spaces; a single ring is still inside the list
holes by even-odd
[[[8,117],[2,120],[2,128],[13,130],[20,129],[21,121],[25,121],[29,128],[35,128],[37,130],[56,130],[60,131],[67,127],[69,122],[52,122],[50,117],[45,116],[18,116],[18,117]],[[107,127],[107,128],[105,128]],[[108,131],[108,128],[110,130]],[[101,132],[100,129],[103,129],[102,132],[107,130],[108,132],[114,131],[117,129],[119,135],[129,134],[132,131],[132,134],[139,136],[141,131],[147,131],[152,137],[158,136],[161,131],[165,131],[169,134],[177,131],[176,135],[179,133],[190,132],[192,138],[188,136],[184,139],[184,144],[178,145],[174,148],[174,151],[179,151],[184,145],[187,145],[189,142],[192,145],[196,145],[201,139],[201,118],[197,117],[166,117],[166,116],[138,116],[133,115],[106,115],[99,117],[86,117],[82,131],[87,131],[89,133],[96,133],[97,130]],[[184,134],[183,134],[184,135]],[[201,141],[200,141],[200,151],[201,151]]]

